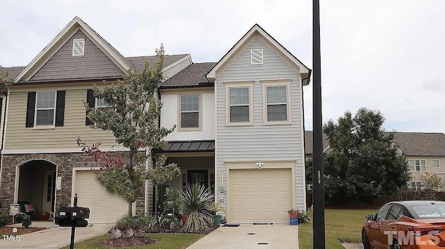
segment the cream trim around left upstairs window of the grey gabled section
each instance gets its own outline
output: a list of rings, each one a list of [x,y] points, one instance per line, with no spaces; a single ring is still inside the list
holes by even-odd
[[[253,83],[254,81],[224,82],[225,84],[225,125],[246,126],[253,125]],[[230,88],[249,88],[249,122],[230,122]]]

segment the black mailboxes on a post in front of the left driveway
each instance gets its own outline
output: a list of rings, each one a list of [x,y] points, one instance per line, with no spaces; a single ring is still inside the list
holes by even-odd
[[[60,207],[58,216],[54,220],[60,227],[71,227],[70,249],[74,249],[76,227],[88,226],[87,218],[90,218],[90,209],[77,207],[77,193],[74,195],[74,207]]]

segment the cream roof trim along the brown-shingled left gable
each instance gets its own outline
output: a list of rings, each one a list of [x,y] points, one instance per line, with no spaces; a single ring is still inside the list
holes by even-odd
[[[22,70],[22,72],[20,72],[20,74],[17,75],[17,77],[15,77],[15,81],[17,82],[17,81],[31,79],[33,75],[27,75],[27,74],[29,74],[29,72],[33,70],[35,65],[38,65],[38,63],[40,63],[40,61],[42,61],[45,58],[45,56],[47,56],[47,54],[51,51],[51,49],[54,46],[58,45],[58,42],[63,41],[66,35],[70,35],[72,33],[72,29],[75,28],[76,25],[79,25],[79,29],[82,28],[83,29],[83,30],[81,29],[82,31],[86,31],[86,35],[88,35],[89,38],[92,38],[92,42],[94,42],[96,45],[99,45],[99,49],[104,49],[106,51],[105,54],[109,54],[110,56],[113,57],[112,59],[114,59],[114,61],[117,62],[116,65],[120,68],[120,70],[122,70],[122,72],[127,72],[130,69],[129,65],[125,63],[122,60],[122,58],[120,58],[113,51],[113,49],[108,47],[108,45],[106,45],[106,43],[103,42],[103,40],[99,38],[99,36],[94,31],[92,31],[92,29],[90,29],[90,27],[86,25],[85,22],[83,22],[79,17],[74,17],[74,19],[72,19],[72,21],[69,24],[67,24],[67,26],[65,26],[65,28],[62,31],[60,31],[60,33],[58,33],[56,38],[54,38],[51,42],[49,42],[49,45],[47,45],[47,47],[45,47],[40,52],[40,54],[38,54],[38,56],[36,56],[33,59],[33,61],[31,61],[31,63],[29,63],[29,65],[27,65],[24,68],[24,70]]]

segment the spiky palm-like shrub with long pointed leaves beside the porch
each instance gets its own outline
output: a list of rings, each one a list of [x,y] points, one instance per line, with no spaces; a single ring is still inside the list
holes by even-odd
[[[187,185],[181,200],[184,205],[184,215],[188,216],[183,232],[205,233],[211,229],[210,204],[215,196],[203,185]]]

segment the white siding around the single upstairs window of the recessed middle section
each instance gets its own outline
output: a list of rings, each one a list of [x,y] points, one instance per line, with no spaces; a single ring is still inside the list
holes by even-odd
[[[179,131],[179,95],[200,94],[201,125],[200,131]],[[163,90],[161,101],[164,103],[161,109],[161,126],[172,127],[177,124],[177,129],[165,137],[165,140],[207,140],[215,139],[215,94],[213,88],[193,90]]]

